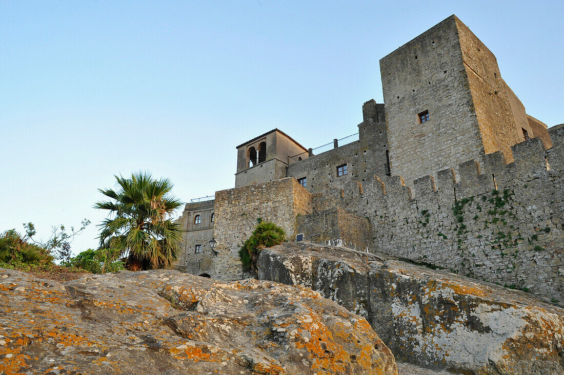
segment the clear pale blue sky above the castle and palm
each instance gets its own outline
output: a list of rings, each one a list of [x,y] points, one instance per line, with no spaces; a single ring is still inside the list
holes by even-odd
[[[0,1],[0,231],[78,226],[114,174],[184,201],[231,188],[237,144],[306,147],[382,102],[378,60],[451,14],[497,56],[527,113],[564,122],[562,1]]]

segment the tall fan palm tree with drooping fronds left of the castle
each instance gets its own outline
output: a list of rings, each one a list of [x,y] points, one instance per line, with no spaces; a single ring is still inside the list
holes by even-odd
[[[147,171],[118,177],[117,191],[98,189],[111,198],[94,208],[109,210],[101,228],[100,248],[117,249],[129,270],[166,268],[178,259],[182,228],[171,221],[183,202],[170,195],[169,179],[156,180]]]

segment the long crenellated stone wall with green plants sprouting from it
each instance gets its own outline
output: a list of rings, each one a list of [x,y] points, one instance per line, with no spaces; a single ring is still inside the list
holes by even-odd
[[[411,261],[564,302],[564,128],[500,152],[484,165],[461,164],[437,179],[401,177],[351,182],[315,195],[316,209],[340,206],[372,224],[374,249]],[[547,162],[550,166],[547,170]]]

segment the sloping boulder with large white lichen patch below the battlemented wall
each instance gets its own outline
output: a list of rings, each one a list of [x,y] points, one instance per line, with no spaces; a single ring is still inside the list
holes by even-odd
[[[564,310],[454,273],[300,242],[262,250],[259,279],[364,316],[399,360],[473,374],[563,374]]]

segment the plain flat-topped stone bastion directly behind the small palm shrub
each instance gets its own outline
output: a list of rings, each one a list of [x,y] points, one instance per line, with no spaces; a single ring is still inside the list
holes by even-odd
[[[219,255],[213,259],[210,276],[219,280],[243,278],[238,252],[258,218],[274,222],[286,231],[288,239],[295,239],[297,215],[312,210],[311,194],[293,178],[216,192],[213,235]]]

